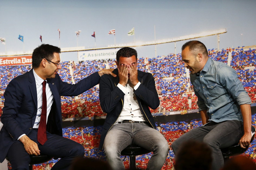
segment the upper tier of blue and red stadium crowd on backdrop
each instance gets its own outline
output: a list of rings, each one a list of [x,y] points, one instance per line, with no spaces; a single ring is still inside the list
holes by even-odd
[[[252,102],[256,102],[256,53],[255,49],[244,50],[243,47],[227,48],[217,51],[209,49],[210,58],[228,63],[236,70],[239,79],[248,91]],[[155,58],[138,58],[138,68],[150,72],[155,78],[156,89],[161,101],[159,109],[153,113],[183,111],[197,109],[197,97],[194,95],[189,77],[185,72],[181,54],[169,54]],[[89,61],[64,61],[59,75],[63,81],[76,83],[80,79],[104,68],[116,68],[115,59],[89,60]],[[31,66],[2,66],[0,71],[0,106],[3,106],[3,93],[9,81],[24,72]],[[251,68],[254,67],[254,68]],[[18,68],[18,69],[17,69]],[[105,116],[99,105],[98,85],[78,97],[63,96],[63,118]],[[0,110],[0,115],[2,114]]]

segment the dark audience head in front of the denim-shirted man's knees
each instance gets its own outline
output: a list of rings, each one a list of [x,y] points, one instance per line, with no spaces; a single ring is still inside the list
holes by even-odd
[[[212,150],[199,141],[184,142],[175,155],[175,170],[210,170],[212,168]]]

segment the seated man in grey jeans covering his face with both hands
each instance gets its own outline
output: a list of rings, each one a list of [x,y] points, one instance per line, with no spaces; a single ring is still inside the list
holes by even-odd
[[[137,144],[153,151],[147,169],[160,170],[169,150],[168,142],[156,130],[149,107],[156,109],[159,97],[150,73],[137,70],[137,51],[124,47],[116,54],[117,77],[100,79],[100,105],[107,113],[100,139],[112,169],[124,169],[121,151]],[[104,147],[103,147],[104,146]]]

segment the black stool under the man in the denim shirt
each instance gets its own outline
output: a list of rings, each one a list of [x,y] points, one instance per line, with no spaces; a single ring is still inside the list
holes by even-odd
[[[255,136],[254,126],[252,126],[251,131],[252,131],[252,138],[251,138],[251,143],[252,143],[254,136]],[[226,161],[227,159],[229,159],[229,156],[243,154],[245,151],[247,151],[248,148],[249,148],[249,146],[247,146],[246,148],[241,148],[240,144],[238,144],[238,145],[230,146],[228,148],[222,148],[220,150],[222,152],[224,161]]]

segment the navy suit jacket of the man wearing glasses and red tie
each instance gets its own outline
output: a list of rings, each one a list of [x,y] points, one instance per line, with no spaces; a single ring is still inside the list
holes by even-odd
[[[47,79],[52,91],[53,105],[48,116],[47,131],[62,136],[62,112],[60,96],[78,96],[100,81],[98,72],[91,74],[76,84],[55,78]],[[37,113],[37,91],[33,69],[14,78],[4,93],[4,108],[1,122],[4,124],[0,131],[0,162],[3,162],[12,143],[22,134],[29,134],[33,128]]]

